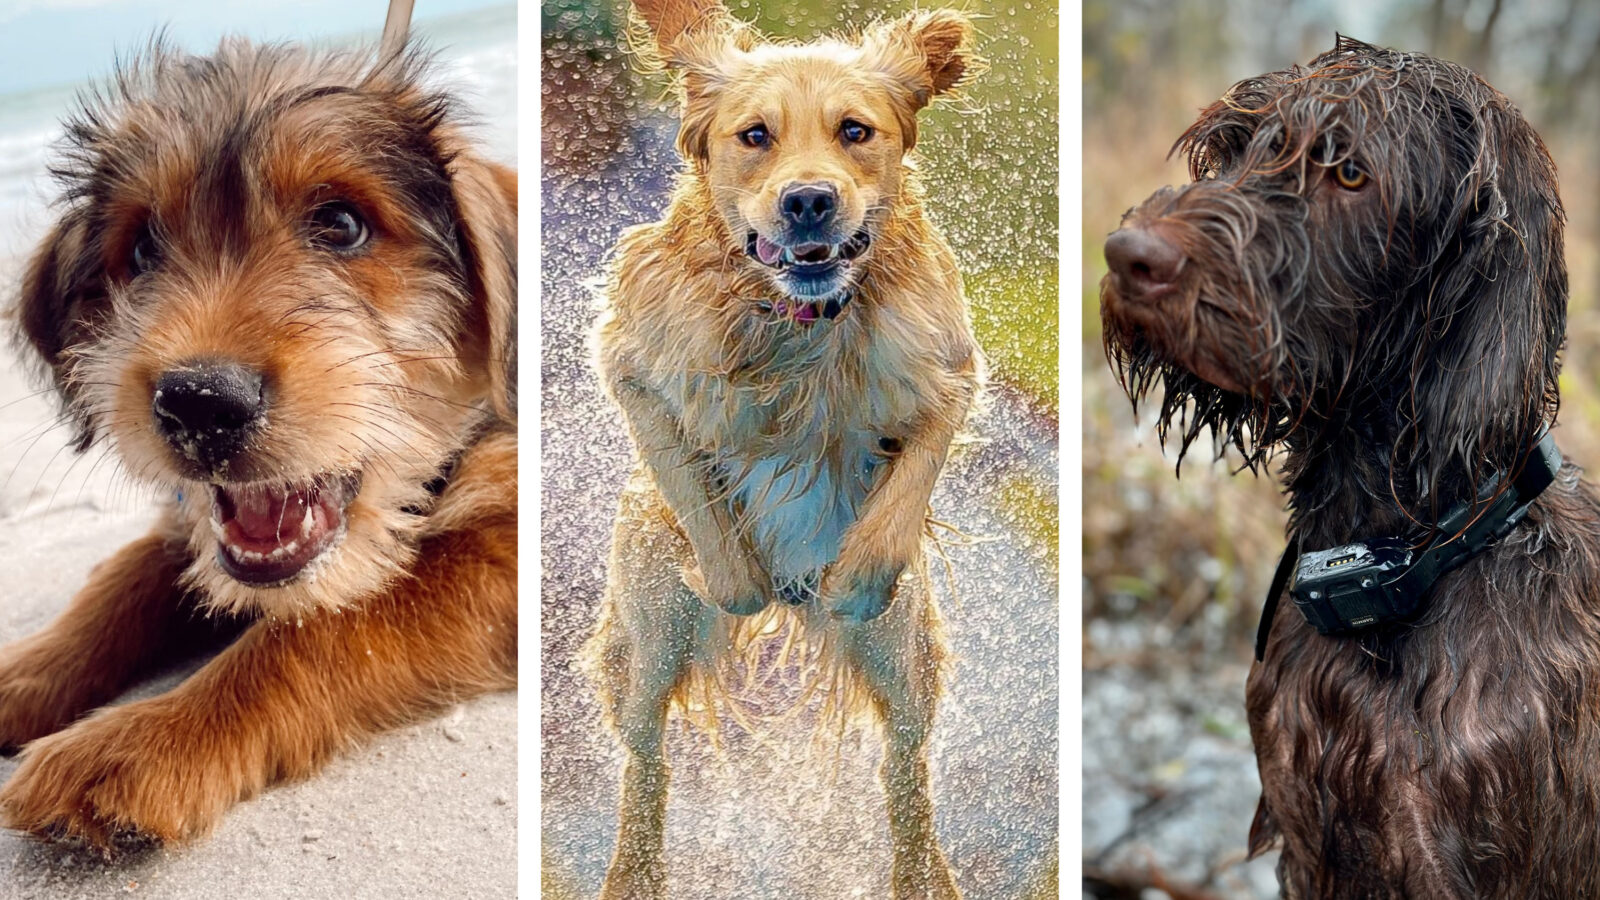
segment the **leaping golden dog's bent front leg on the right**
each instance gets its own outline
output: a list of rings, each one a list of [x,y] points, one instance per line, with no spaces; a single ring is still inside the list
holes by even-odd
[[[965,410],[965,404],[962,407]],[[955,437],[957,416],[934,418],[902,440],[901,453],[867,495],[822,575],[822,605],[835,618],[870,621],[890,607],[894,583],[922,552],[933,482]]]

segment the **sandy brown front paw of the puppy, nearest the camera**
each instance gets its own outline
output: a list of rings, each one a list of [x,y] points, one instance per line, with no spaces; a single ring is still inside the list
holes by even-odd
[[[0,822],[106,854],[126,838],[168,842],[210,830],[240,799],[240,769],[219,764],[224,735],[190,740],[195,725],[158,701],[110,708],[27,745],[0,790]]]

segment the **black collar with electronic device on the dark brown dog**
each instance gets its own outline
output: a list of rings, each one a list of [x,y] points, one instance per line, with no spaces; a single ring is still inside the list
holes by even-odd
[[[1562,452],[1546,431],[1509,490],[1501,488],[1502,472],[1496,472],[1478,490],[1477,503],[1453,508],[1426,543],[1416,535],[1418,540],[1374,538],[1301,552],[1299,541],[1291,538],[1261,610],[1256,660],[1266,653],[1285,586],[1306,621],[1322,634],[1347,634],[1413,618],[1440,575],[1506,536],[1560,469]]]

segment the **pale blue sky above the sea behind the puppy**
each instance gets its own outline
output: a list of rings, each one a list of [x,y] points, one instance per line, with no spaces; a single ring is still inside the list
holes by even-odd
[[[416,0],[434,19],[504,0]],[[227,34],[306,40],[376,32],[389,0],[0,0],[0,96],[102,78],[117,53],[165,27],[173,43],[205,51]],[[3,102],[3,101],[0,101]]]

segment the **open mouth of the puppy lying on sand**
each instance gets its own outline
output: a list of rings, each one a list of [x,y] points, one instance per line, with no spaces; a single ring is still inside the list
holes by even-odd
[[[246,585],[291,581],[346,530],[360,474],[309,484],[213,484],[211,533],[222,570]]]

